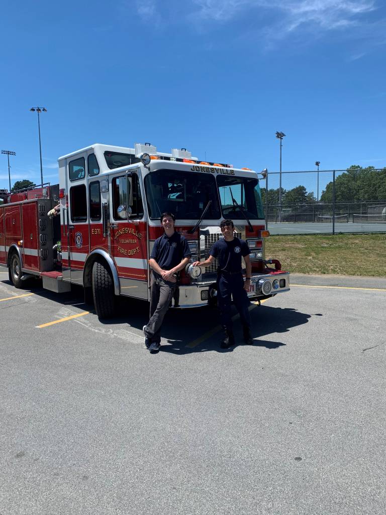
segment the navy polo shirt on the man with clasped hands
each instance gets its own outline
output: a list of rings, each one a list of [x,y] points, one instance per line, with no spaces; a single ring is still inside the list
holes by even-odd
[[[155,260],[163,270],[170,270],[190,255],[191,251],[186,238],[174,231],[170,237],[164,233],[155,240],[150,259]]]

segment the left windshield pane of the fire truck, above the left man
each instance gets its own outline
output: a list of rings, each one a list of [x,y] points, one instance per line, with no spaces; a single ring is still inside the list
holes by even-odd
[[[145,177],[146,201],[150,218],[170,211],[176,218],[199,220],[206,204],[205,219],[221,217],[216,180],[213,176],[181,170],[156,170]]]

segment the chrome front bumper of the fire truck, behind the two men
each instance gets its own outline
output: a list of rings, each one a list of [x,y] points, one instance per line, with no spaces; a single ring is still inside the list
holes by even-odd
[[[252,274],[248,297],[261,300],[290,290],[289,272],[273,271],[271,273]],[[197,281],[188,286],[180,285],[174,296],[172,307],[200,307],[214,304],[217,297],[216,279]]]

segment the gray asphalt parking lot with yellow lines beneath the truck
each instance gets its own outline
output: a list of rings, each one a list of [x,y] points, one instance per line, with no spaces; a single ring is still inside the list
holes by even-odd
[[[147,303],[0,272],[0,515],[386,512],[386,279],[292,276],[230,350],[169,311],[150,355]]]

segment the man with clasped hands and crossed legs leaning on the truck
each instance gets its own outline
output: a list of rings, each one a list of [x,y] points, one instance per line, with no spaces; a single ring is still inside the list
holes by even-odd
[[[172,213],[161,215],[164,234],[157,238],[150,255],[150,320],[144,325],[145,345],[151,353],[161,347],[161,326],[177,286],[177,272],[189,263],[190,249],[186,238],[174,231]]]

